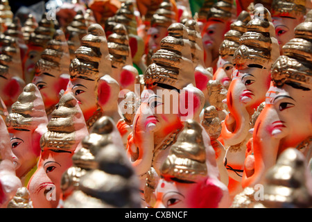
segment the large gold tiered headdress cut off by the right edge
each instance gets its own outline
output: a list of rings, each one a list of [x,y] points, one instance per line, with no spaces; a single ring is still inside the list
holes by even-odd
[[[291,84],[297,87],[312,87],[312,11],[306,21],[295,28],[295,38],[282,48],[283,56],[275,61],[271,78],[275,86]]]

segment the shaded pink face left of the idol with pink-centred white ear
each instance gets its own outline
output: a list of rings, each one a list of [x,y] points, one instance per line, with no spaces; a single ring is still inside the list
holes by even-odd
[[[40,90],[44,106],[50,108],[60,100],[61,89],[66,89],[69,78],[56,78],[53,74],[43,73],[33,78],[33,84]]]

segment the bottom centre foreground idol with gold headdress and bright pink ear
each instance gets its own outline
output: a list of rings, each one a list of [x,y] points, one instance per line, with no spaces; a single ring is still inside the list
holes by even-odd
[[[155,208],[229,207],[227,187],[218,180],[214,149],[200,124],[184,123],[177,142],[162,162],[154,194]]]

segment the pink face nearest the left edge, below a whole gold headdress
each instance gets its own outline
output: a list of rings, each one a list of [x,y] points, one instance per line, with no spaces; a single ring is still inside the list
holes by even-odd
[[[31,131],[13,129],[9,131],[12,152],[14,153],[15,172],[19,178],[22,178],[37,164],[37,159],[40,156],[39,143],[37,146],[33,143],[35,138],[33,138]]]

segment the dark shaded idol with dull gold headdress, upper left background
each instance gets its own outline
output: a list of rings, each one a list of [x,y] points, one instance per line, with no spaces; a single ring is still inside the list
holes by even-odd
[[[55,24],[53,20],[48,20],[47,17],[48,15],[45,12],[28,40],[28,49],[22,61],[26,83],[31,83],[31,80],[33,80],[36,62],[40,60],[42,51],[44,51],[47,42],[52,39],[55,33]]]

